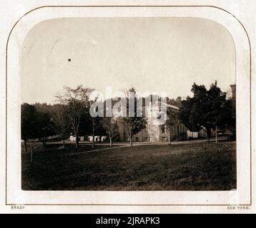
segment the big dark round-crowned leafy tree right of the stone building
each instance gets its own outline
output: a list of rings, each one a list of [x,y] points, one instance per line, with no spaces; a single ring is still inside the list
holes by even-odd
[[[217,87],[217,81],[210,85],[207,90],[205,86],[192,86],[194,96],[182,100],[179,108],[179,119],[192,131],[204,129],[210,142],[211,130],[217,127],[224,128],[228,125],[227,119],[230,118],[230,106],[223,93]]]

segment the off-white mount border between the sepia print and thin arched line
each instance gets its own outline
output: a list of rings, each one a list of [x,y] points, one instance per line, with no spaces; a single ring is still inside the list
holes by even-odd
[[[236,48],[237,190],[236,191],[22,191],[20,152],[21,78],[19,53],[26,34],[46,19],[63,17],[200,17],[222,24]],[[239,21],[221,9],[205,7],[41,8],[14,27],[8,46],[7,203],[8,204],[250,204],[250,46]],[[245,128],[246,126],[246,128]]]

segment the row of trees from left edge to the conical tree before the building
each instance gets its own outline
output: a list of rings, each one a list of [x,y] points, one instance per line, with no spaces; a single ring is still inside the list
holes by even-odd
[[[119,122],[125,125],[132,146],[132,137],[146,127],[146,118],[137,116],[136,108],[133,117],[115,118],[113,114],[108,117],[105,115],[104,117],[92,117],[89,114],[89,108],[92,103],[97,101],[97,98],[89,99],[92,91],[92,88],[82,85],[77,88],[64,87],[61,93],[56,94],[57,103],[54,105],[22,104],[21,139],[24,140],[25,150],[27,150],[27,140],[38,139],[45,146],[52,135],[58,135],[63,140],[63,147],[65,147],[65,139],[69,137],[70,133],[76,137],[76,147],[79,146],[80,135],[92,135],[92,147],[95,144],[94,135],[99,135],[99,140],[103,135],[107,135],[109,145],[112,147],[113,139],[118,136]],[[134,88],[130,88],[128,92],[136,93]],[[107,110],[104,108],[104,113],[106,112]]]

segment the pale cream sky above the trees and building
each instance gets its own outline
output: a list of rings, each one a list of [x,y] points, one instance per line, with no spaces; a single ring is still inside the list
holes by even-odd
[[[22,46],[22,103],[54,103],[63,86],[80,84],[186,97],[192,83],[215,80],[223,91],[235,83],[235,47],[206,19],[54,19],[34,26]]]

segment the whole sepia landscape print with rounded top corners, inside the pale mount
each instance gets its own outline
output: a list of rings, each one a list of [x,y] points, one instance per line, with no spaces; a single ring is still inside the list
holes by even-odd
[[[237,189],[235,45],[192,17],[41,21],[21,46],[21,189]]]

